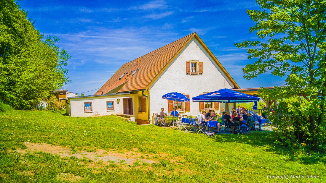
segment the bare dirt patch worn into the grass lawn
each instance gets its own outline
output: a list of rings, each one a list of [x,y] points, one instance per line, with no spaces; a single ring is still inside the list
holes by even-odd
[[[103,163],[105,164],[109,164],[109,161],[114,161],[115,163],[124,162],[126,164],[131,165],[136,160],[141,160],[142,162],[146,162],[146,163],[158,163],[157,161],[145,159],[145,158],[150,158],[151,155],[146,156],[145,154],[135,152],[137,151],[137,149],[134,149],[134,151],[125,152],[124,154],[113,152],[113,151],[101,150],[101,149],[96,149],[96,152],[79,151],[73,153],[70,148],[62,147],[62,146],[54,146],[46,143],[42,143],[42,144],[26,143],[24,145],[26,145],[28,149],[24,149],[24,150],[18,149],[17,152],[27,153],[33,151],[37,151],[37,152],[42,151],[42,152],[51,153],[53,155],[59,155],[61,157],[74,156],[79,159],[86,157],[95,162],[102,160]]]

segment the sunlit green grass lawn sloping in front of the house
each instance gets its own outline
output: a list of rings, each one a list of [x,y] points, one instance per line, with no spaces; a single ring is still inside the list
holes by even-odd
[[[271,135],[208,137],[136,125],[117,116],[0,112],[0,182],[326,182],[325,156],[289,151],[275,145]],[[85,157],[28,148],[40,143]],[[134,161],[101,160],[107,153]],[[319,178],[290,177],[307,174]],[[272,180],[268,175],[289,179]]]

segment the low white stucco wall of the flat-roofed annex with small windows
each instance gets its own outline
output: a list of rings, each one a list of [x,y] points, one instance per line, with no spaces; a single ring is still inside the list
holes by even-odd
[[[120,98],[119,104],[117,99]],[[113,95],[113,96],[93,96],[84,98],[70,98],[70,112],[72,117],[88,117],[95,113],[101,116],[111,115],[111,114],[122,114],[123,113],[123,98],[133,99],[133,115],[137,119],[138,107],[138,95]],[[106,101],[114,101],[114,111],[107,111]],[[92,102],[92,112],[84,111],[84,102]]]

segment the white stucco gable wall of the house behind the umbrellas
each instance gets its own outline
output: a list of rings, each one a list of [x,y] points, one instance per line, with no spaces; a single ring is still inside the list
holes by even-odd
[[[203,62],[202,75],[186,74],[186,62],[189,60]],[[170,92],[178,92],[190,96],[190,111],[184,114],[198,115],[200,113],[199,102],[192,102],[192,97],[201,95],[203,92],[213,92],[233,87],[234,85],[224,75],[211,56],[197,39],[193,38],[151,86],[150,112],[151,114],[159,113],[162,107],[165,108],[165,112],[168,112],[168,102],[166,99],[162,99],[162,96]],[[220,103],[220,109],[222,108],[225,108],[224,103]]]

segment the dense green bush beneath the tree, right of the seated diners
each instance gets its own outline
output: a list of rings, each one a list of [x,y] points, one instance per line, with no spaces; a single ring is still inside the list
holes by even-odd
[[[318,126],[318,133],[311,134],[309,127],[309,102],[302,97],[278,100],[274,112],[268,114],[273,122],[275,143],[289,147],[304,147],[325,150],[325,121]],[[318,139],[312,142],[312,139]]]

